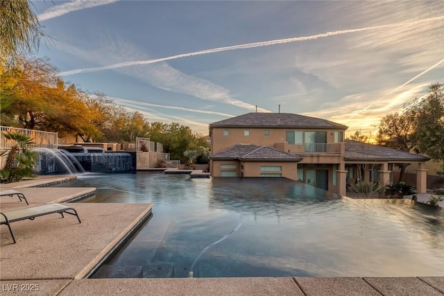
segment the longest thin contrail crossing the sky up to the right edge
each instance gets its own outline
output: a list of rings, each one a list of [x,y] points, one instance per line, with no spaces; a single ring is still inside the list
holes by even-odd
[[[116,68],[121,68],[121,67],[137,66],[137,65],[141,65],[141,64],[153,64],[155,62],[164,62],[167,60],[188,58],[188,57],[191,57],[194,55],[206,55],[208,53],[219,53],[220,51],[233,51],[235,49],[253,49],[255,47],[270,46],[270,45],[275,45],[275,44],[285,44],[285,43],[292,43],[292,42],[316,40],[316,39],[323,38],[323,37],[329,37],[329,36],[346,34],[346,33],[355,33],[355,32],[361,32],[361,31],[369,31],[369,30],[375,30],[375,29],[380,29],[380,28],[391,28],[391,27],[396,27],[396,26],[412,26],[415,24],[420,24],[425,21],[437,21],[439,19],[444,19],[444,16],[431,17],[429,19],[420,19],[418,21],[410,21],[407,23],[404,22],[404,23],[386,24],[386,25],[380,25],[380,26],[371,26],[371,27],[367,27],[367,28],[356,28],[356,29],[349,29],[349,30],[332,31],[332,32],[321,33],[321,34],[305,36],[305,37],[293,37],[293,38],[287,38],[287,39],[279,39],[279,40],[271,40],[271,41],[264,41],[264,42],[239,44],[239,45],[234,45],[234,46],[218,47],[216,49],[206,49],[204,51],[194,51],[192,53],[182,53],[180,55],[171,55],[167,58],[158,58],[158,59],[153,59],[153,60],[138,60],[138,61],[133,61],[133,62],[120,62],[117,64],[111,64],[111,65],[105,66],[105,67],[74,69],[74,70],[70,70],[70,71],[60,72],[59,75],[60,76],[69,76],[69,75],[74,75],[74,74],[78,74],[78,73],[96,72],[96,71],[116,69]]]

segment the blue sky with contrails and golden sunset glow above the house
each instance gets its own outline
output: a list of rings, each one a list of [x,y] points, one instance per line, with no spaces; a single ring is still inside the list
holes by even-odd
[[[444,82],[444,1],[33,1],[60,76],[148,121],[290,112],[373,133]]]

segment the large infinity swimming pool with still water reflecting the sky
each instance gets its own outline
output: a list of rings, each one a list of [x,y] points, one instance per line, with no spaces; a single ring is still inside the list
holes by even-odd
[[[80,202],[153,203],[151,220],[105,263],[142,270],[137,277],[444,275],[443,211],[409,200],[352,200],[282,178],[150,172],[57,186],[97,188]]]

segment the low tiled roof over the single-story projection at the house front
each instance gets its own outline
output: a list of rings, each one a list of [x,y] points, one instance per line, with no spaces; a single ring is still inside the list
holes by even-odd
[[[291,153],[285,153],[268,146],[256,146],[253,144],[237,144],[226,148],[215,155],[212,159],[239,159],[242,161],[278,161],[278,162],[300,162],[302,157]]]

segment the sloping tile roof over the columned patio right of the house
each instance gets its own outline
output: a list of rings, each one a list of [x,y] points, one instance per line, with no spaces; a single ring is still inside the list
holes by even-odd
[[[384,146],[345,140],[345,160],[427,162],[430,157]]]

